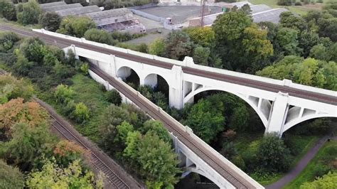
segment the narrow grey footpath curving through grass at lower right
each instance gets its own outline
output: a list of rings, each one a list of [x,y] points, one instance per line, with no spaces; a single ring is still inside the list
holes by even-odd
[[[289,173],[287,173],[287,175],[284,175],[284,177],[279,179],[276,183],[267,185],[266,188],[267,189],[283,188],[285,185],[294,180],[299,175],[299,173],[301,173],[301,171],[303,171],[304,168],[306,168],[311,159],[314,158],[314,156],[316,156],[316,153],[319,152],[319,149],[323,146],[323,144],[325,144],[328,138],[329,138],[328,136],[323,136],[323,138],[321,138],[316,143],[316,145],[313,148],[311,148],[303,158],[301,158],[301,160],[299,161],[299,163],[295,168],[293,168]],[[333,139],[336,140],[337,138],[334,137]]]

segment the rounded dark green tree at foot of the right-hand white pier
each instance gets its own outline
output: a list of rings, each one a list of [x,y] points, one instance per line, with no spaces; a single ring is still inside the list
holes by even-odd
[[[277,134],[265,134],[259,146],[257,157],[267,171],[287,171],[290,166],[290,151]]]

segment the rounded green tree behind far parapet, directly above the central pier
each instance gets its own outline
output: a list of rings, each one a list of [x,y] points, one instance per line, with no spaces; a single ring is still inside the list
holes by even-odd
[[[176,60],[183,60],[191,55],[193,42],[183,31],[171,31],[165,40],[166,56]]]

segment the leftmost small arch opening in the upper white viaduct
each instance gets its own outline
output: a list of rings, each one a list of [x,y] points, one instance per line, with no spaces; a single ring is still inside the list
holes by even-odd
[[[139,75],[132,68],[123,66],[117,70],[117,77],[122,78],[128,85],[137,89],[140,83]]]

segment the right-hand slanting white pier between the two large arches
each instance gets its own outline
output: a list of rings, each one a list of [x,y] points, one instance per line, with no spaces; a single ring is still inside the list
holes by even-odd
[[[279,136],[282,136],[284,131],[284,122],[287,119],[287,113],[289,110],[288,98],[288,94],[282,92],[277,94],[277,97],[272,103],[265,133],[277,132]]]

